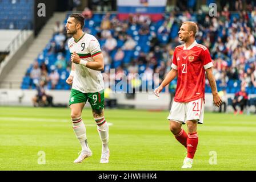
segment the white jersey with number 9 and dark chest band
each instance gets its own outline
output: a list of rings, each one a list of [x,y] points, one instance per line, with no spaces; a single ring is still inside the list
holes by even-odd
[[[76,52],[80,59],[93,61],[93,56],[101,53],[98,40],[90,34],[84,34],[79,40],[74,38],[69,40],[69,50],[72,54]],[[81,64],[75,65],[75,75],[72,89],[83,93],[94,93],[104,89],[103,77],[100,71],[87,68]]]

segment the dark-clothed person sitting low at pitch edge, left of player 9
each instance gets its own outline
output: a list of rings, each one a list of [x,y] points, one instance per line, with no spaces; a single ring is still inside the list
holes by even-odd
[[[37,86],[37,95],[32,98],[33,106],[53,106],[53,97],[45,92],[45,81],[40,81]]]

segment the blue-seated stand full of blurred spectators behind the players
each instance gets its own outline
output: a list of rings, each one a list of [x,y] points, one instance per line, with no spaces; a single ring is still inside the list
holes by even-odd
[[[181,44],[177,39],[181,22],[193,20],[199,26],[197,42],[210,49],[214,60],[218,90],[226,88],[227,93],[235,93],[241,85],[245,85],[249,94],[256,94],[255,10],[251,13],[223,10],[219,16],[217,20],[203,13],[190,14],[185,11],[166,14],[165,19],[158,22],[151,22],[143,15],[131,15],[126,22],[121,22],[115,14],[93,14],[92,18],[86,19],[84,31],[98,38],[105,57],[105,73],[109,73],[111,68],[120,68],[126,75],[131,69],[138,73],[147,70],[149,73],[161,73],[163,78],[170,69],[167,63],[173,56],[175,46]],[[65,23],[66,20],[63,26]],[[67,48],[69,38],[64,29],[62,27],[61,31],[54,33],[37,59],[39,66],[46,64],[46,77],[51,70],[57,69],[59,81],[55,89],[70,89],[65,84],[70,70],[70,53]],[[134,43],[134,46],[129,48],[126,43]],[[120,55],[121,59],[115,59]],[[59,57],[65,59],[65,66],[56,64]],[[133,62],[134,66],[130,64]],[[165,64],[166,69],[161,68],[161,64]],[[33,65],[27,69],[22,89],[35,88],[30,78],[31,70]],[[50,79],[46,78],[46,81],[48,89],[51,89]],[[206,92],[211,92],[207,82]]]

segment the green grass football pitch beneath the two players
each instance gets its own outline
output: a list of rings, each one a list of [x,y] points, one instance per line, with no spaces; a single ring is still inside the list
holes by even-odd
[[[186,151],[169,131],[168,114],[106,109],[111,155],[101,164],[97,127],[91,110],[83,110],[93,156],[74,164],[81,146],[68,108],[0,107],[0,170],[188,170],[181,169]],[[204,122],[189,170],[256,169],[256,115],[205,113]]]

